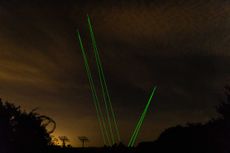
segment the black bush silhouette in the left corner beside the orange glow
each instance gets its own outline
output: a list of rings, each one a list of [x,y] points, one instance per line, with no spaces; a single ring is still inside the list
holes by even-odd
[[[51,122],[55,125],[52,119],[35,110],[25,112],[20,106],[0,99],[0,152],[43,153],[51,144],[53,129],[50,132],[46,129]]]

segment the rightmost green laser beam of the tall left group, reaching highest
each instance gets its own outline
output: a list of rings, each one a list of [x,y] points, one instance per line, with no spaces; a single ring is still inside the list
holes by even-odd
[[[95,36],[94,36],[94,33],[93,33],[93,28],[92,28],[92,24],[90,22],[90,17],[89,16],[88,16],[88,24],[89,24],[89,28],[90,28],[91,39],[92,39],[92,42],[94,44],[94,53],[95,53],[95,58],[96,58],[96,62],[97,62],[97,65],[98,65],[98,71],[99,71],[99,75],[101,76],[100,81],[102,82],[101,85],[102,85],[102,89],[104,90],[103,94],[104,94],[104,96],[107,97],[109,109],[110,109],[111,114],[112,114],[113,124],[115,126],[116,135],[117,135],[118,141],[120,141],[120,134],[119,134],[119,130],[118,130],[117,122],[116,122],[116,117],[115,117],[115,113],[113,111],[113,107],[112,107],[112,104],[111,104],[111,98],[110,98],[110,95],[109,95],[109,92],[108,92],[108,87],[107,87],[107,84],[106,84],[106,79],[105,79],[105,75],[104,75],[104,72],[103,72],[103,68],[102,68],[102,64],[101,64],[101,60],[100,60],[100,56],[99,56],[99,51],[98,51],[98,48],[97,48],[97,45],[96,45],[96,40],[95,40]],[[105,99],[106,99],[106,97],[105,97]]]

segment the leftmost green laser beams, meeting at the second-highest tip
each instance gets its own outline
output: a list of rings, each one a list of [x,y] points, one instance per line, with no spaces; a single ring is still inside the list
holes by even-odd
[[[80,33],[79,32],[77,32],[77,33],[78,33],[78,39],[79,39],[81,51],[82,51],[82,54],[83,54],[85,68],[86,68],[87,76],[88,76],[88,79],[89,79],[89,84],[90,84],[90,88],[91,88],[91,92],[92,92],[93,102],[94,102],[94,106],[96,108],[97,118],[98,118],[99,126],[100,126],[100,129],[101,129],[103,141],[104,141],[104,144],[107,144],[106,141],[108,141],[108,144],[111,145],[109,137],[108,137],[108,132],[106,130],[105,122],[104,122],[104,119],[103,119],[103,114],[102,114],[102,111],[101,111],[101,108],[100,108],[100,104],[98,102],[98,97],[97,97],[96,89],[95,89],[94,82],[93,82],[93,79],[92,79],[91,71],[90,71],[90,68],[89,68],[89,65],[88,65],[87,56],[86,56],[86,53],[85,53],[85,50],[84,50],[84,47],[83,47],[83,44],[82,44],[82,39],[81,39]]]

